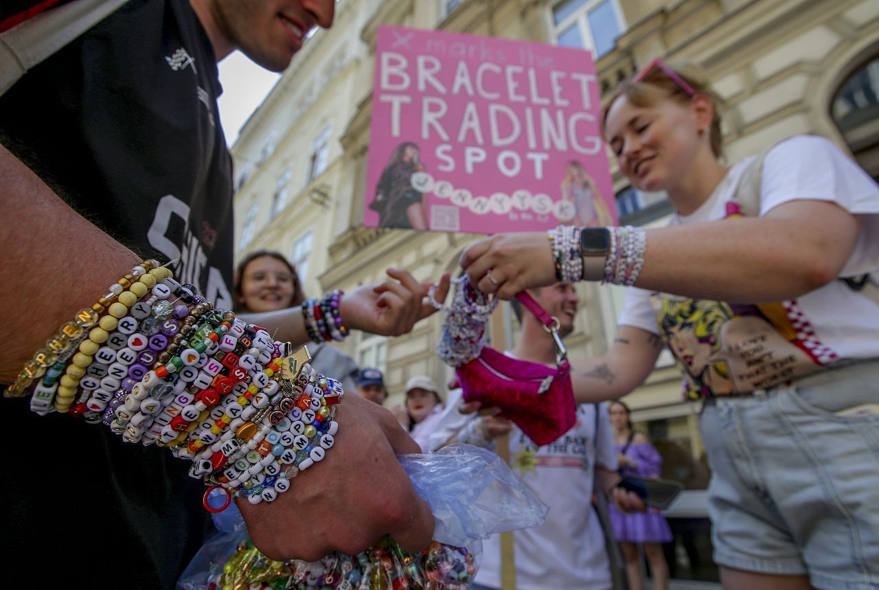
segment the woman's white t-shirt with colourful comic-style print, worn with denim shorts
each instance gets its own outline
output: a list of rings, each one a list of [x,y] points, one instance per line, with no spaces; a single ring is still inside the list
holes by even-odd
[[[710,222],[726,217],[727,203],[735,193],[746,164],[752,159],[745,158],[733,166],[711,198],[692,215],[675,215],[669,225]],[[879,269],[879,186],[832,142],[822,137],[797,136],[779,143],[766,155],[761,175],[760,215],[766,215],[791,200],[829,200],[852,214],[860,215],[861,231],[841,275],[856,276]],[[796,358],[797,362],[811,362],[819,368],[840,359],[879,357],[879,306],[842,280],[832,280],[795,300],[761,305],[759,310],[754,306],[711,302],[723,306],[723,310],[709,310],[702,306],[701,309],[691,307],[686,312],[681,311],[687,305],[702,303],[706,302],[628,288],[619,322],[666,338],[679,336],[670,347],[679,367],[684,369],[689,397],[699,397],[708,390],[715,393],[748,390],[745,383],[761,387],[760,375],[766,375],[766,382],[779,375],[795,376],[784,375],[788,370],[784,364],[786,359],[791,360],[791,365]],[[684,317],[687,313],[689,316]],[[735,344],[724,343],[724,336],[729,336],[727,340],[734,338],[729,330],[721,331],[723,323],[729,322],[729,319],[717,320],[724,313],[772,322],[774,331],[782,335],[769,336],[770,344],[780,346],[776,353],[764,350],[769,347],[766,334],[759,334],[764,339],[762,343],[754,338],[741,339]],[[664,322],[662,327],[657,322],[657,314]],[[717,337],[715,340],[709,338],[712,331]],[[680,336],[682,332],[686,333]],[[787,343],[779,338],[786,339]],[[704,346],[713,346],[713,352],[700,353],[693,350],[698,345],[687,345],[697,339]],[[676,351],[676,347],[681,350]],[[728,353],[733,349],[744,349],[746,362],[729,362]],[[779,354],[778,350],[785,352]],[[709,357],[708,368],[703,369],[706,356]],[[716,362],[712,364],[711,361]],[[737,370],[739,364],[749,364],[748,372]]]

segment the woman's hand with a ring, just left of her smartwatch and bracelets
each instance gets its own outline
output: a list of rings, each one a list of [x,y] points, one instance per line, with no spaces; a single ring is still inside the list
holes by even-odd
[[[498,234],[470,244],[461,254],[461,267],[471,284],[501,299],[557,280],[552,244],[546,232],[540,231]]]

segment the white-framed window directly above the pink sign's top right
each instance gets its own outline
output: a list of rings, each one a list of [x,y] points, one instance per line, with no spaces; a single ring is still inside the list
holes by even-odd
[[[556,43],[589,49],[598,59],[624,31],[618,0],[562,0],[552,7]]]

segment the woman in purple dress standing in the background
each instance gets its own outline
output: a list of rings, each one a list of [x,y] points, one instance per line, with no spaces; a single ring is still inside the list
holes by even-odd
[[[616,401],[610,406],[610,421],[614,426],[614,449],[616,461],[620,465],[620,475],[639,477],[659,477],[662,456],[642,433],[632,429],[628,405]],[[644,554],[650,562],[655,590],[668,588],[668,564],[665,563],[661,543],[672,540],[672,530],[665,517],[658,511],[649,509],[643,513],[622,513],[610,506],[610,519],[614,525],[614,536],[620,542],[622,554],[626,557],[628,582],[632,590],[642,590],[643,577],[636,543],[643,543]]]

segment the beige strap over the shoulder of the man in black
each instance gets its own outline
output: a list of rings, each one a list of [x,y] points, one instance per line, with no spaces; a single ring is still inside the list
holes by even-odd
[[[28,18],[0,33],[0,96],[18,78],[92,26],[110,16],[127,0],[75,0]]]

